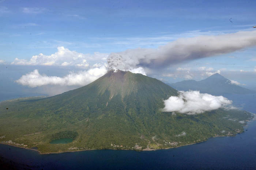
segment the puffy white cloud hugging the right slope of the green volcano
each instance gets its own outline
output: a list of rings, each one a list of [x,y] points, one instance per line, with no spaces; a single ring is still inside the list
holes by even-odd
[[[180,112],[189,115],[203,113],[219,108],[227,108],[231,100],[223,96],[212,96],[199,91],[180,91],[178,96],[171,96],[164,100],[164,112]]]

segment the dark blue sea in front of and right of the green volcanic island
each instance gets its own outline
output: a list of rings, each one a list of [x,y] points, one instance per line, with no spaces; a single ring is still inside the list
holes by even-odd
[[[256,113],[254,94],[223,95],[236,107]],[[157,151],[90,150],[41,155],[0,144],[0,157],[20,169],[256,169],[256,121],[235,137]]]

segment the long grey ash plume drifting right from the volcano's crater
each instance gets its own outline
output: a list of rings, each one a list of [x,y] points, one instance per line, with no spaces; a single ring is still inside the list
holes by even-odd
[[[180,38],[157,49],[139,48],[111,53],[107,61],[109,69],[128,70],[139,66],[158,68],[252,46],[256,46],[256,31],[240,31],[225,35]]]

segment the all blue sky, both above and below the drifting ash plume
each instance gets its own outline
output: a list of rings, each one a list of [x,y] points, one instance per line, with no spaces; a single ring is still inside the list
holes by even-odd
[[[113,52],[136,48],[157,49],[180,38],[253,31],[252,27],[256,25],[255,9],[256,1],[252,0],[0,0],[0,64],[10,65],[15,58],[29,61],[40,53],[49,56],[56,53],[58,47],[64,47],[76,51],[77,55],[84,54],[84,67],[72,67],[83,60],[64,67],[66,74],[77,73],[92,69],[95,63],[103,65],[105,60],[101,58]],[[94,57],[95,52],[99,53],[98,58]],[[85,67],[85,64],[89,66]],[[26,67],[27,64],[22,66]],[[166,82],[201,80],[220,71],[223,76],[246,84],[247,88],[254,88],[255,66],[256,47],[250,46],[165,68],[145,70],[148,76]],[[37,64],[27,73],[38,69],[40,74],[47,76],[63,76],[63,72],[54,71],[57,65],[46,67],[50,68],[51,73],[44,72],[47,69],[39,69]]]

